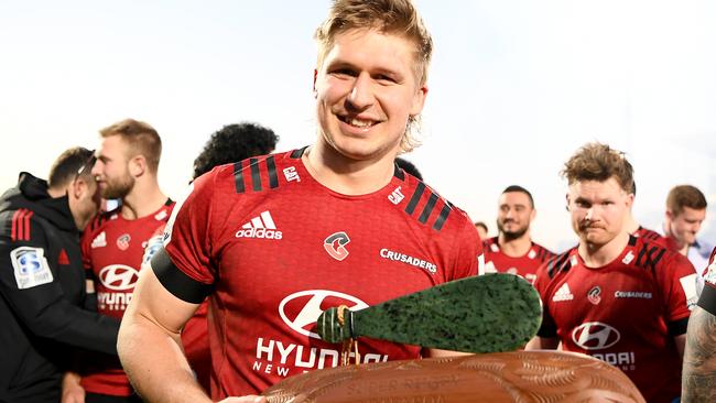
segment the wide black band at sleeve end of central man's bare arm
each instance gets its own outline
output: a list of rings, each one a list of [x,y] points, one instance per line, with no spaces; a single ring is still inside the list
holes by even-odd
[[[200,304],[214,288],[213,285],[198,282],[178,270],[163,247],[154,253],[151,264],[164,288],[187,303]]]

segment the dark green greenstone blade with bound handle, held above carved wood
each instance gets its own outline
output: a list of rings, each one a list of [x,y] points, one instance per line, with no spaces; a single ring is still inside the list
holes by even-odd
[[[441,284],[345,315],[340,326],[335,312],[326,311],[318,318],[318,335],[329,342],[366,336],[455,351],[499,352],[518,349],[534,337],[542,306],[524,279],[497,273]]]

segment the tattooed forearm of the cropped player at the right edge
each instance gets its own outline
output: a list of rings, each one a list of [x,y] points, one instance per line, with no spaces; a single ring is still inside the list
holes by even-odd
[[[682,401],[716,401],[716,316],[701,307],[688,319]]]

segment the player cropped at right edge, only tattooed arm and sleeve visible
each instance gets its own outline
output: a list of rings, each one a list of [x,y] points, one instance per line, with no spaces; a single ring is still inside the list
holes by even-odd
[[[696,268],[699,270],[699,268]],[[716,248],[704,271],[704,290],[688,319],[682,402],[716,401]]]

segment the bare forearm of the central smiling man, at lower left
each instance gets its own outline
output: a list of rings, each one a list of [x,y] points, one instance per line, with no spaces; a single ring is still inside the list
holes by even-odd
[[[126,315],[117,349],[127,375],[145,401],[211,402],[194,378],[178,334],[148,318]]]

